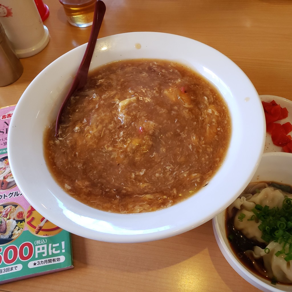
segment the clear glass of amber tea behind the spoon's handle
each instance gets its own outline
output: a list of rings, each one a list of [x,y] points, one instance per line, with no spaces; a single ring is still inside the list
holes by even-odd
[[[67,20],[77,27],[92,25],[96,0],[59,0]]]

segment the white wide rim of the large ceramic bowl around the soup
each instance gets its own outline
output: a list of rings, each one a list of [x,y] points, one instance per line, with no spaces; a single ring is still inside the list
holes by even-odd
[[[158,32],[98,39],[90,69],[115,60],[159,58],[181,62],[204,75],[223,95],[231,114],[232,137],[223,165],[197,194],[151,213],[99,211],[60,189],[44,160],[43,133],[56,117],[85,48],[86,44],[79,46],[48,65],[27,87],[13,113],[9,161],[16,183],[31,205],[63,229],[111,242],[171,237],[201,225],[226,208],[250,181],[263,153],[265,120],[260,99],[248,77],[225,55],[198,41]]]

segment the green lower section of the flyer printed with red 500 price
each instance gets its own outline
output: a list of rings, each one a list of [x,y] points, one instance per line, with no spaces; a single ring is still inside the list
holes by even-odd
[[[46,238],[25,230],[0,247],[0,261],[1,281],[72,267],[71,234],[62,230]]]

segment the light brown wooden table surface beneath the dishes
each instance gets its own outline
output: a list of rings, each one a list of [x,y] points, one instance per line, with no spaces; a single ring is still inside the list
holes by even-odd
[[[158,31],[201,41],[233,60],[258,93],[292,99],[291,0],[104,0],[99,37]],[[44,1],[51,39],[21,59],[22,76],[0,88],[0,107],[16,104],[48,64],[87,42],[91,27],[70,25],[58,0]],[[252,118],[252,117],[251,117]],[[15,281],[4,291],[259,291],[221,254],[211,221],[184,234],[138,244],[72,235],[74,269]]]

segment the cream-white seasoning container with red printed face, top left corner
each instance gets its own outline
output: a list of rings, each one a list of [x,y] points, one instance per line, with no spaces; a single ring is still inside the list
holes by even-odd
[[[49,42],[34,0],[1,0],[0,22],[19,58],[39,53]]]

